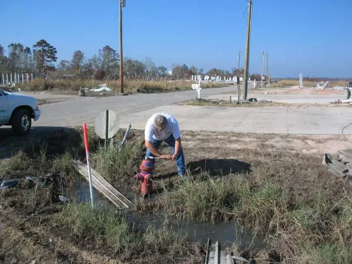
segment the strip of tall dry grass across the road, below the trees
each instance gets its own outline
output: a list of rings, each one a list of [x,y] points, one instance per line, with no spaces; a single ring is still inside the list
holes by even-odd
[[[79,87],[93,88],[97,85],[106,83],[110,89],[116,92],[121,90],[120,80],[84,80],[84,79],[34,79],[29,83],[19,83],[22,91],[47,91],[47,90],[60,90],[60,91],[78,91]],[[137,90],[146,90],[148,93],[161,93],[161,92],[175,92],[183,90],[191,90],[191,81],[141,81],[141,80],[124,80],[125,93],[137,93]],[[219,83],[204,83],[202,88],[209,87],[223,87],[226,84]]]

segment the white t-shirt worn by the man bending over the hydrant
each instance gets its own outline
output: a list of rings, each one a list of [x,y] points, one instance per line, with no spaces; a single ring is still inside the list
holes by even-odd
[[[167,120],[166,128],[160,131],[160,133],[157,131],[157,129],[154,126],[154,119],[157,115],[162,115],[166,117],[166,120]],[[167,113],[156,113],[148,119],[144,130],[145,140],[148,140],[148,141],[152,141],[153,139],[165,140],[169,138],[171,134],[175,139],[178,139],[180,137],[179,123],[173,116]]]

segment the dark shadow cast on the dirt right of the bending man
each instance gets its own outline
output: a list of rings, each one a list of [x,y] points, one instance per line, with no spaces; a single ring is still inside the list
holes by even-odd
[[[192,174],[209,173],[211,176],[251,172],[250,164],[237,159],[202,159],[186,165]]]

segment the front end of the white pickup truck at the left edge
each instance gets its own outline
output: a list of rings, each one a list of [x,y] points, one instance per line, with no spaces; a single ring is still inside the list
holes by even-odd
[[[0,126],[12,126],[17,136],[25,136],[37,121],[40,110],[37,99],[0,89]]]

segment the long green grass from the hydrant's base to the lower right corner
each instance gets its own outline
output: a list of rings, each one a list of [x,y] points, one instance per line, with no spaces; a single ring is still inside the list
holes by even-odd
[[[352,244],[351,198],[346,195],[336,204],[318,192],[308,202],[292,196],[275,175],[263,175],[260,183],[254,183],[250,175],[212,178],[204,173],[201,181],[189,175],[173,189],[165,185],[154,204],[145,206],[142,200],[135,204],[138,210],[161,209],[189,220],[240,223],[253,234],[265,234],[282,259],[299,258],[306,259],[304,263],[314,263],[320,259],[316,255],[325,250],[321,248],[325,244],[330,255],[322,263],[348,263]]]

